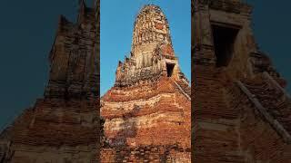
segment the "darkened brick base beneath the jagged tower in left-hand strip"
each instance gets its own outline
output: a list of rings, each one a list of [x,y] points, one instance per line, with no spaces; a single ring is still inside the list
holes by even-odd
[[[89,162],[95,160],[98,101],[38,100],[10,127],[8,162]]]

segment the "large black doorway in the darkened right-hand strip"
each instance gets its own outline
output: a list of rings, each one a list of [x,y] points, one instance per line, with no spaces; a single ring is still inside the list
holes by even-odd
[[[216,66],[227,66],[233,57],[238,29],[212,25],[212,32],[216,53]]]

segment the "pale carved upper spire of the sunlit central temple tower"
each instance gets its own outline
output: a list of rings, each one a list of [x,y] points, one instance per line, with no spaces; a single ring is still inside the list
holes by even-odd
[[[163,76],[186,80],[174,52],[166,15],[159,6],[145,5],[135,19],[130,56],[118,63],[115,86],[155,81]]]

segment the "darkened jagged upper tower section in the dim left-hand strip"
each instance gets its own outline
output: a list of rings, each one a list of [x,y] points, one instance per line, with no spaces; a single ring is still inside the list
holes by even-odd
[[[49,61],[46,98],[87,99],[97,97],[95,56],[95,10],[81,1],[77,22],[60,17]],[[90,84],[91,83],[91,84]],[[88,86],[91,85],[91,86]],[[95,87],[95,89],[88,89]]]

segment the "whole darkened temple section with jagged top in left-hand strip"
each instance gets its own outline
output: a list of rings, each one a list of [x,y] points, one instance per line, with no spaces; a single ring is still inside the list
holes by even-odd
[[[96,162],[99,144],[98,3],[76,23],[60,16],[44,98],[0,135],[0,162]]]

